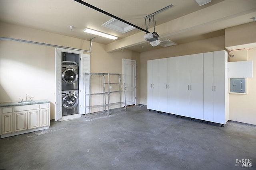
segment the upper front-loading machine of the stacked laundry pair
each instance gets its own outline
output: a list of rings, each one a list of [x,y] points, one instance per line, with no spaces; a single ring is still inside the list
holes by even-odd
[[[61,70],[62,90],[78,90],[78,66],[62,64]]]

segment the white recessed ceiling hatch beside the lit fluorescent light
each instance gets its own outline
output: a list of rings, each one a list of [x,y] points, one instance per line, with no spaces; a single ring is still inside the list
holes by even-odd
[[[115,31],[118,31],[121,33],[126,33],[128,31],[132,31],[133,29],[135,29],[135,27],[128,25],[127,23],[124,23],[115,18],[112,18],[111,20],[106,21],[105,23],[102,24],[102,26],[110,29],[114,29]]]

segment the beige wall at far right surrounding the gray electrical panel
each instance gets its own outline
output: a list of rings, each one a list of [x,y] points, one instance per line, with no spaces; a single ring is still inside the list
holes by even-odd
[[[256,125],[256,23],[250,22],[225,29],[225,46],[230,52],[230,61],[253,61],[253,78],[246,78],[247,94],[229,95],[229,119]]]

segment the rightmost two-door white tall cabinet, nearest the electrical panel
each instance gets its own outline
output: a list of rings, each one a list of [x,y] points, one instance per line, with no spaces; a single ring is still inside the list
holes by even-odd
[[[228,121],[228,53],[204,53],[204,120],[225,124]]]

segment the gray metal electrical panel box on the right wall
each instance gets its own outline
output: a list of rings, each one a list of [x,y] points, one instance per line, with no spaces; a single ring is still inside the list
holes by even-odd
[[[245,78],[230,78],[230,93],[245,93]]]

